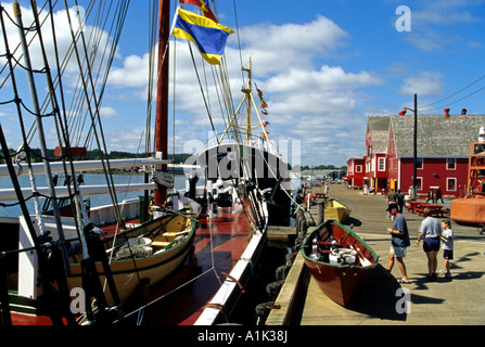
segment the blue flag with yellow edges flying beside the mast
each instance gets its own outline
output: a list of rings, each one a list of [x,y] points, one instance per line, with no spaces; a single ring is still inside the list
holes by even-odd
[[[175,37],[195,43],[202,57],[212,65],[220,63],[226,41],[233,33],[231,28],[182,9],[178,10],[173,30]]]

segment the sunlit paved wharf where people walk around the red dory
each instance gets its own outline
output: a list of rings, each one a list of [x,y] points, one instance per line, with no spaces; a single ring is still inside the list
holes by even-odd
[[[405,208],[411,245],[405,258],[410,284],[399,284],[400,271],[395,262],[387,275],[387,256],[391,236],[386,229],[392,221],[386,218],[383,195],[362,195],[361,191],[330,185],[334,197],[350,209],[354,231],[379,255],[379,266],[355,293],[347,308],[331,301],[306,271],[302,255],[293,262],[286,280],[275,303],[266,325],[483,325],[485,324],[485,235],[475,227],[451,222],[455,234],[455,259],[451,278],[438,275],[425,280],[426,256],[422,242],[418,246],[418,228],[423,217]],[[445,208],[450,202],[445,201]],[[317,207],[311,215],[316,219]],[[310,227],[308,230],[312,230]],[[438,254],[438,270],[443,269],[443,250]],[[403,288],[408,290],[406,292]],[[406,294],[407,293],[407,294]],[[408,306],[404,306],[406,299]]]

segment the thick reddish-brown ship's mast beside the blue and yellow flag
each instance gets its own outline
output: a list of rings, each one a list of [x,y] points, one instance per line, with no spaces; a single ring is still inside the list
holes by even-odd
[[[170,0],[159,1],[158,22],[158,81],[156,89],[156,120],[155,120],[155,152],[162,153],[162,158],[168,156],[168,74],[169,74],[169,48],[170,36]],[[166,171],[167,166],[163,165]],[[155,190],[155,206],[161,206],[167,198],[167,190],[158,185]]]

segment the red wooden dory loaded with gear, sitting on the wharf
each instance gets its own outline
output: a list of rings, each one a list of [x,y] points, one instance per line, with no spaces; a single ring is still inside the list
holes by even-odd
[[[372,248],[334,220],[327,220],[308,235],[302,254],[321,291],[342,306],[378,265]]]

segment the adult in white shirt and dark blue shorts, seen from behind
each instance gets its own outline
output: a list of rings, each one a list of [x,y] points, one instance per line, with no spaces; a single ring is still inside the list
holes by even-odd
[[[436,278],[437,255],[439,252],[439,237],[442,234],[442,226],[436,218],[431,217],[432,210],[430,207],[424,208],[424,220],[419,227],[419,236],[417,244],[423,241],[423,250],[427,258],[427,280]]]

